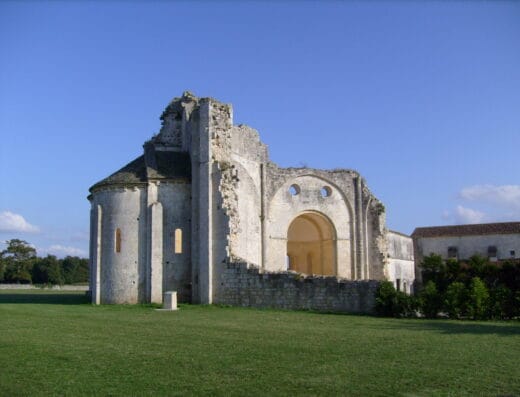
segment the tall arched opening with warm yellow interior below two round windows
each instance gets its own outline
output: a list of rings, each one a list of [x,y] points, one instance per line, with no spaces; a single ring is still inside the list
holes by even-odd
[[[287,231],[289,270],[306,274],[336,275],[336,233],[325,216],[306,212]]]

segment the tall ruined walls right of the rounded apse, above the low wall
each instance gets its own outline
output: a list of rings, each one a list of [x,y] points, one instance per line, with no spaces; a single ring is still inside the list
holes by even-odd
[[[382,205],[357,172],[280,168],[269,161],[257,131],[233,125],[230,105],[203,98],[191,117],[195,115],[192,274],[200,302],[219,296],[227,263],[285,271],[288,228],[304,212],[316,212],[333,225],[337,276],[384,278]],[[293,184],[298,195],[289,193]],[[322,195],[323,188],[329,194]]]

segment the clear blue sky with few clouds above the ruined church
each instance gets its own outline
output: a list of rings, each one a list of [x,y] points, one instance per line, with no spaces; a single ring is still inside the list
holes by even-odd
[[[520,2],[0,2],[0,240],[88,253],[88,188],[190,90],[388,227],[520,220]],[[2,246],[0,245],[0,248]]]

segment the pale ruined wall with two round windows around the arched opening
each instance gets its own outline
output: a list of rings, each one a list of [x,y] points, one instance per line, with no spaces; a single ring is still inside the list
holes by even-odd
[[[291,194],[291,186],[297,194]],[[325,189],[328,194],[322,195]],[[267,167],[265,200],[266,255],[264,269],[285,270],[287,230],[305,211],[325,215],[334,225],[337,275],[349,279],[385,278],[384,206],[352,170]]]

